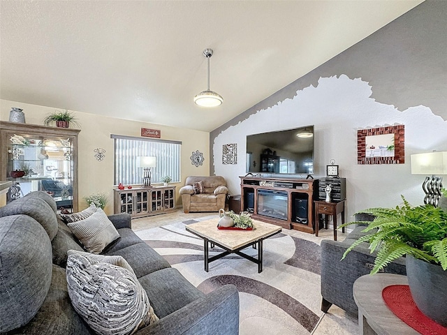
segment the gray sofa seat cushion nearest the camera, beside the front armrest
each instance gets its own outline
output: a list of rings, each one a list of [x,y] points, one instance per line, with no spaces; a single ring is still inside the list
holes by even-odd
[[[205,293],[194,287],[173,267],[152,272],[138,279],[159,318],[177,311],[190,302],[204,297]]]

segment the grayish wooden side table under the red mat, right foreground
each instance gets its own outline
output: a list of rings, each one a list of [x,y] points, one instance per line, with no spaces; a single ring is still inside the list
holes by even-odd
[[[386,306],[382,290],[389,285],[408,285],[408,281],[400,274],[366,274],[354,282],[359,334],[420,335]]]

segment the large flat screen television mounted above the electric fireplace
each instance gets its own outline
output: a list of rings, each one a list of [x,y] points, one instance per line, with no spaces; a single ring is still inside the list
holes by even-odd
[[[246,172],[314,174],[314,126],[247,135]]]

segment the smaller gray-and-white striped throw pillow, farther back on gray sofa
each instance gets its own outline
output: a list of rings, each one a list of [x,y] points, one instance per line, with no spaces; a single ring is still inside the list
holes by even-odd
[[[101,208],[84,220],[67,223],[75,237],[79,239],[89,253],[101,253],[119,233]]]

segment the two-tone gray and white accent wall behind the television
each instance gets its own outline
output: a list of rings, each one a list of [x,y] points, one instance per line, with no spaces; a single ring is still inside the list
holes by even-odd
[[[357,99],[360,92],[368,96]],[[212,131],[210,174],[223,175],[238,194],[247,134],[314,124],[315,175],[325,175],[330,159],[340,165],[347,219],[366,207],[400,204],[401,194],[420,204],[424,176],[411,174],[410,155],[447,151],[446,120],[447,1],[428,0]],[[385,124],[406,126],[405,164],[357,165],[356,131]],[[222,165],[222,143],[238,144],[237,165]]]

